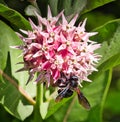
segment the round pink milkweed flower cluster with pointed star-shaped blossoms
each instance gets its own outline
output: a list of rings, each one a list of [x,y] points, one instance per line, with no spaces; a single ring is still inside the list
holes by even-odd
[[[15,48],[23,51],[24,67],[18,71],[29,71],[29,79],[33,79],[35,73],[38,77],[35,82],[44,79],[47,85],[56,82],[60,74],[75,74],[79,81],[90,81],[88,75],[95,68],[100,59],[100,55],[94,51],[100,48],[100,44],[90,40],[90,37],[97,32],[86,32],[86,19],[75,26],[78,14],[68,22],[62,11],[53,17],[48,7],[47,18],[42,18],[36,13],[38,25],[31,19],[32,30],[18,34],[23,41],[23,45]],[[79,84],[80,84],[79,82]]]

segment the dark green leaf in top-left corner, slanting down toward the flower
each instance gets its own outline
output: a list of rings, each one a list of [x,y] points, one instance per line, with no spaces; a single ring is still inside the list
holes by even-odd
[[[0,4],[0,15],[18,29],[31,29],[29,22],[17,11]]]

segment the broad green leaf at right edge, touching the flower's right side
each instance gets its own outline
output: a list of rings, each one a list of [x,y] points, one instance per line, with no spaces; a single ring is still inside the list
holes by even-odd
[[[120,64],[120,19],[110,21],[95,31],[98,34],[93,40],[102,43],[98,50],[102,55],[98,64],[99,69],[104,71]]]

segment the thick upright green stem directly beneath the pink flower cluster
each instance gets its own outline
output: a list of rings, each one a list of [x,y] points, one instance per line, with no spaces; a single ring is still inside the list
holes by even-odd
[[[37,83],[37,90],[36,90],[36,104],[34,106],[34,122],[42,122],[42,117],[40,115],[40,105],[43,99],[43,84]]]

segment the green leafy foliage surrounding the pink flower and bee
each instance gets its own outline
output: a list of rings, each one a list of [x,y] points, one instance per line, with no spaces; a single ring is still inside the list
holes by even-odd
[[[97,66],[99,72],[93,73],[90,76],[93,82],[84,83],[81,89],[90,101],[91,110],[83,109],[76,95],[60,103],[46,99],[38,108],[42,116],[40,122],[119,122],[120,0],[37,0],[37,5],[31,1],[0,0],[0,69],[34,98],[36,86],[32,83],[25,85],[28,74],[15,73],[21,67],[15,64],[22,61],[22,58],[17,58],[21,52],[9,47],[21,43],[15,32],[19,29],[31,29],[28,18],[36,22],[33,10],[45,17],[48,4],[53,15],[63,9],[66,16],[72,17],[79,13],[77,23],[87,18],[87,31],[97,31],[98,35],[92,39],[102,44],[101,49],[97,50],[102,55]],[[0,121],[34,121],[34,106],[1,75]]]

